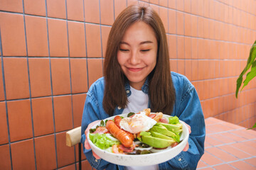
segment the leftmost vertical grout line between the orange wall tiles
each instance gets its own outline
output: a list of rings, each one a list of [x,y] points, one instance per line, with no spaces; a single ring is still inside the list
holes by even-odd
[[[4,86],[4,103],[6,107],[6,123],[7,123],[7,132],[8,132],[8,144],[9,144],[9,154],[11,160],[11,170],[13,169],[13,161],[11,156],[11,137],[10,137],[10,125],[9,125],[9,115],[8,115],[8,108],[7,108],[7,100],[6,100],[6,84],[5,84],[5,77],[4,77],[4,55],[3,55],[3,47],[1,42],[1,29],[0,29],[0,50],[1,50],[1,71],[2,71],[2,79],[3,79],[3,86]]]

